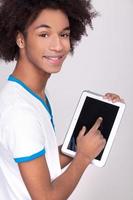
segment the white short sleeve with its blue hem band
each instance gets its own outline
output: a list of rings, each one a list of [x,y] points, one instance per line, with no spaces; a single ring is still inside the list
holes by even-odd
[[[12,109],[5,121],[7,147],[17,163],[45,154],[45,138],[37,113],[19,107]]]

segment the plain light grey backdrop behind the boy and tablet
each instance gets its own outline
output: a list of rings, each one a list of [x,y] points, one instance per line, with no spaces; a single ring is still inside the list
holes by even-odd
[[[70,200],[132,200],[133,1],[93,0],[101,16],[88,28],[73,57],[52,75],[48,92],[53,102],[58,143],[63,142],[82,90],[115,92],[126,111],[105,167],[88,166]],[[15,63],[0,62],[0,88]],[[69,180],[68,180],[69,181]]]

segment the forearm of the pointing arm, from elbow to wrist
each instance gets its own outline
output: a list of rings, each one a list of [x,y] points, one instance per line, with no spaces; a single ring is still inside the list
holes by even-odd
[[[86,167],[90,164],[88,159],[77,155],[67,170],[53,181],[52,200],[66,200],[77,186]]]

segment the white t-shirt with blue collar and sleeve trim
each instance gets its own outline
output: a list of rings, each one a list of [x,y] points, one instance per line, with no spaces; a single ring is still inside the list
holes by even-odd
[[[50,104],[10,76],[0,92],[0,199],[31,200],[17,163],[43,155],[53,180],[61,167]]]

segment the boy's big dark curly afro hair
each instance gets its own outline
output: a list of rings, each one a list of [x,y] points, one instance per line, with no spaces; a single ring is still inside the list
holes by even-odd
[[[86,25],[92,28],[92,18],[97,15],[90,0],[0,0],[0,58],[6,62],[17,60],[19,47],[16,44],[18,31],[26,29],[46,8],[60,9],[69,19],[71,53]]]

